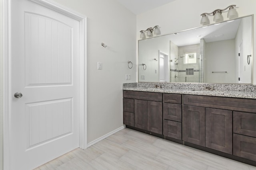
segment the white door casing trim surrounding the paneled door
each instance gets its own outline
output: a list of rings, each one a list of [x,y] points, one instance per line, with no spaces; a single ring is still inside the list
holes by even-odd
[[[52,0],[29,0],[79,21],[79,147],[87,148],[87,18]],[[3,0],[3,168],[10,167],[10,113],[12,111],[11,0]]]

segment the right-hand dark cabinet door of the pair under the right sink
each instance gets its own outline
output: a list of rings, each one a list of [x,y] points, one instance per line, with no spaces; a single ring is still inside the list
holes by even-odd
[[[206,108],[206,147],[232,154],[232,111]]]

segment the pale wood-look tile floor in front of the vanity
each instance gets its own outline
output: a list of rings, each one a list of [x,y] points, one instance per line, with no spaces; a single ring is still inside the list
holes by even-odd
[[[35,170],[256,170],[256,167],[123,129]]]

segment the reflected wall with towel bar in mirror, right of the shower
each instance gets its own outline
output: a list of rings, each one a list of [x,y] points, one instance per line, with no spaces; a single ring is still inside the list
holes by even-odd
[[[235,39],[205,43],[204,82],[236,83],[235,56]]]

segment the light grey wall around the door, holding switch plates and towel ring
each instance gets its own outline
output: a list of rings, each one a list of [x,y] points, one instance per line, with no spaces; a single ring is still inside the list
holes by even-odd
[[[136,82],[136,15],[115,0],[54,1],[87,16],[88,19],[87,137],[90,143],[123,126],[122,83]],[[2,24],[2,17],[0,23]],[[2,31],[0,35],[2,40]],[[2,49],[2,41],[0,43]],[[101,43],[105,43],[108,47],[102,47]],[[2,52],[0,54],[0,146],[2,146],[3,56]],[[128,68],[128,61],[132,61],[132,69]],[[102,70],[97,70],[97,62],[102,62]],[[130,74],[131,80],[125,80],[125,74]],[[2,150],[2,147],[0,149]],[[1,156],[0,161],[2,161]]]

